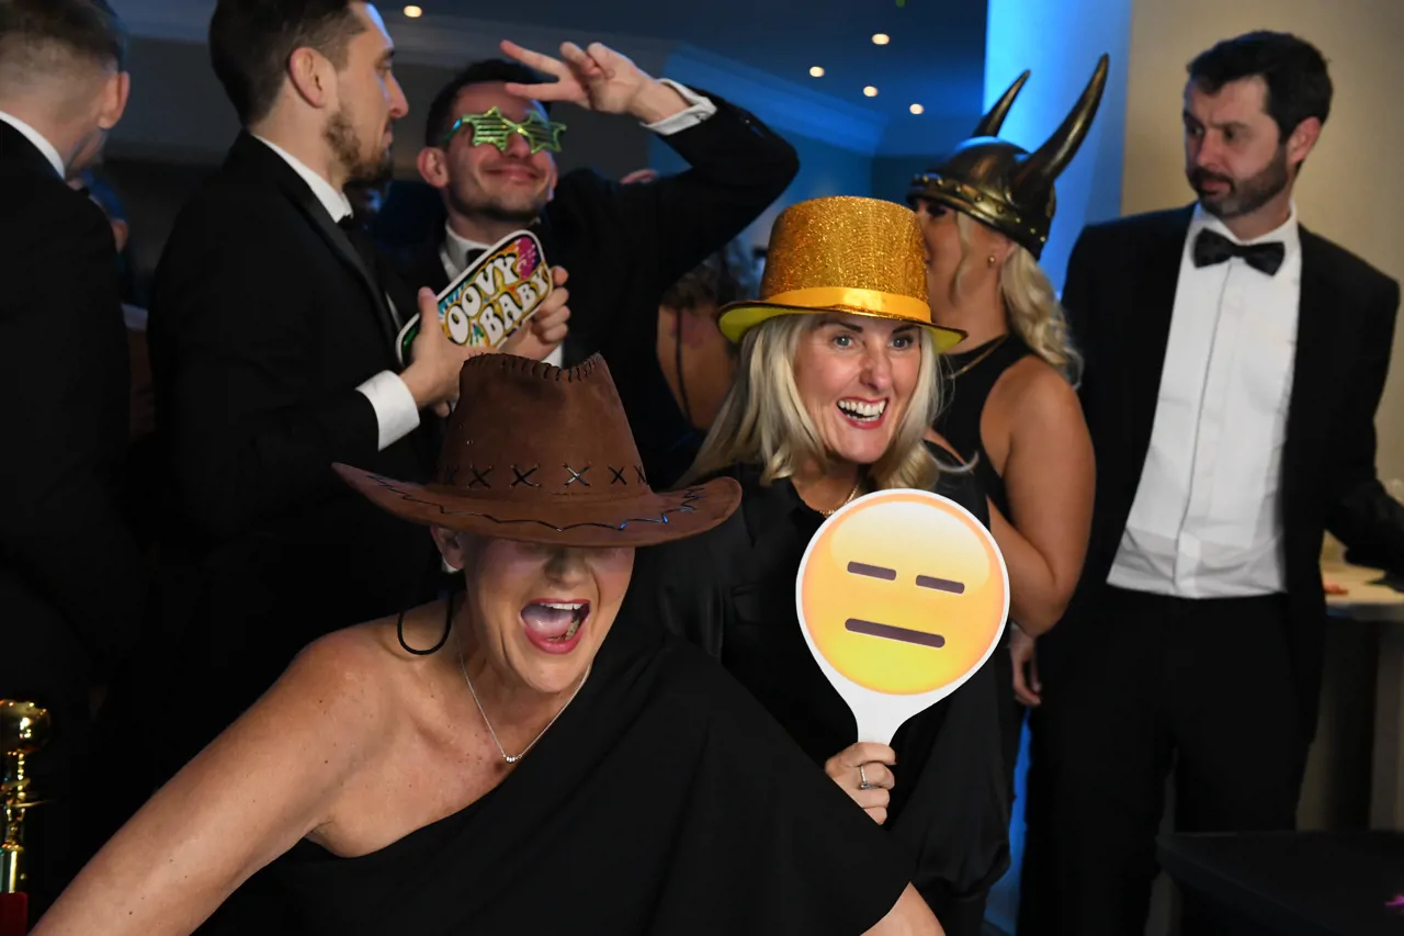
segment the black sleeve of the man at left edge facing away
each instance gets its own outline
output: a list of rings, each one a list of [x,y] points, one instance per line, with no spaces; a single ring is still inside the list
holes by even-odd
[[[105,665],[135,641],[147,583],[118,507],[131,378],[112,232],[67,190],[7,211],[22,236],[6,238],[0,298],[0,555]]]

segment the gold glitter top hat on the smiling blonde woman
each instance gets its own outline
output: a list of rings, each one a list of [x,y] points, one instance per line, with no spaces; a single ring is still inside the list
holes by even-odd
[[[758,301],[722,308],[731,342],[776,315],[849,312],[900,319],[934,333],[936,350],[965,332],[931,320],[921,223],[906,205],[837,195],[790,205],[775,219]]]

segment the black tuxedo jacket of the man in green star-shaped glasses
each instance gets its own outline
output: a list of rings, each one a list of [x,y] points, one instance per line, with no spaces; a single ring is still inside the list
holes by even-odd
[[[567,173],[531,228],[546,260],[570,273],[563,361],[570,367],[598,351],[609,363],[654,486],[682,474],[699,441],[658,367],[658,299],[755,221],[799,171],[788,142],[747,111],[706,97],[716,114],[661,138],[691,169],[635,186],[594,170]],[[448,285],[442,240],[437,229],[399,254],[406,282],[435,292]]]

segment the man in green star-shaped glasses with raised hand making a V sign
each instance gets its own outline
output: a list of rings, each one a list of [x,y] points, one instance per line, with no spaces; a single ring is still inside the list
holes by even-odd
[[[418,169],[442,193],[448,221],[406,252],[400,270],[413,285],[441,291],[483,249],[534,230],[546,257],[571,274],[570,333],[546,360],[569,367],[604,354],[650,482],[667,486],[692,462],[701,437],[658,367],[658,304],[785,191],[799,159],[751,114],[653,79],[600,44],[567,42],[564,60],[511,42],[503,51],[517,60],[470,65],[430,105]],[[555,82],[536,83],[539,73]],[[632,186],[588,169],[557,177],[553,152],[569,131],[542,131],[532,142],[501,132],[503,121],[496,134],[484,124],[497,108],[515,125],[535,115],[546,126],[559,101],[639,121],[691,169]]]

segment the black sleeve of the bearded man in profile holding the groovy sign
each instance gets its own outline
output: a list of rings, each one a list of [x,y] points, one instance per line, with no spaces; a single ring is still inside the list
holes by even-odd
[[[187,225],[199,243],[163,260],[150,340],[183,513],[223,538],[337,492],[331,464],[366,464],[379,427],[355,386],[316,389],[317,284],[296,257],[199,230],[216,223],[277,238],[253,215]]]

